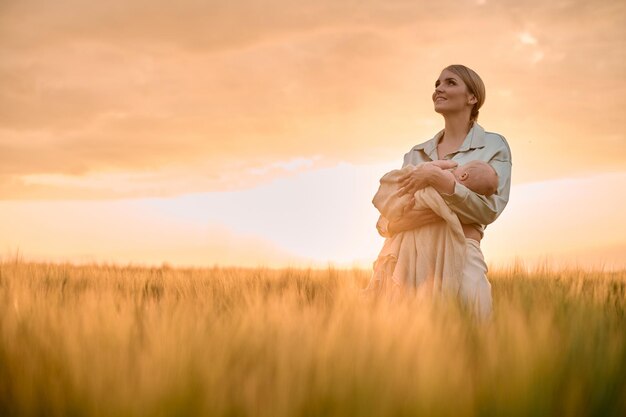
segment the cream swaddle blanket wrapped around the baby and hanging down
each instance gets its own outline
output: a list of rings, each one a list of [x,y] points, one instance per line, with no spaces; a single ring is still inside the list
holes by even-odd
[[[399,219],[410,200],[400,195],[398,179],[412,170],[409,165],[385,174],[374,196],[374,206],[388,220]],[[415,208],[429,208],[444,220],[385,239],[374,262],[367,290],[393,292],[394,287],[413,287],[434,295],[458,294],[465,263],[465,235],[456,214],[432,187],[415,193]]]

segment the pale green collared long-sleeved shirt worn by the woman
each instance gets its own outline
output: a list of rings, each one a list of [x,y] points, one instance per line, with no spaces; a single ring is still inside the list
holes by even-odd
[[[404,155],[402,167],[439,159],[437,144],[442,135],[443,130],[432,139],[414,146]],[[459,149],[444,159],[451,159],[459,165],[474,160],[484,161],[496,170],[498,191],[489,197],[477,194],[458,182],[455,182],[453,194],[441,193],[444,201],[457,214],[461,223],[472,225],[483,236],[485,226],[493,223],[502,214],[509,201],[511,150],[506,139],[497,133],[485,132],[478,123],[474,123]],[[381,234],[387,234],[379,225],[377,227]]]

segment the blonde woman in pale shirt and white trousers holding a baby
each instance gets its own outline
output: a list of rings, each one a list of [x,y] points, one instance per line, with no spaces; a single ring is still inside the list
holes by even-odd
[[[503,136],[485,132],[477,123],[479,109],[485,102],[485,86],[470,68],[446,67],[435,82],[432,100],[435,111],[445,120],[445,127],[404,155],[403,167],[418,166],[400,179],[402,190],[413,194],[432,186],[458,216],[466,241],[466,262],[459,293],[474,313],[485,319],[491,314],[492,299],[480,240],[485,226],[498,218],[509,200],[511,151]],[[472,160],[487,162],[495,169],[498,174],[495,194],[477,194],[442,170]],[[439,162],[429,163],[432,161]],[[381,217],[377,229],[383,237],[391,237],[439,220],[441,218],[431,210],[413,209],[397,221],[388,222]]]

